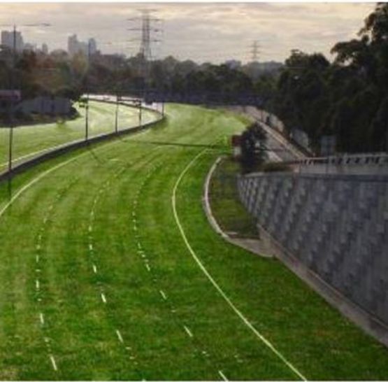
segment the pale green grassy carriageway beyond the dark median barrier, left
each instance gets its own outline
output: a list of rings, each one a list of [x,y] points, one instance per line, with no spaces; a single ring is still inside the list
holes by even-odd
[[[89,136],[106,134],[115,129],[114,104],[89,101]],[[13,130],[13,163],[17,164],[53,146],[85,138],[85,108],[79,108],[80,116],[74,120],[41,125],[18,126]],[[143,110],[143,123],[155,120],[157,115]],[[120,106],[118,128],[138,125],[138,109]],[[0,126],[0,172],[8,167],[8,127]]]

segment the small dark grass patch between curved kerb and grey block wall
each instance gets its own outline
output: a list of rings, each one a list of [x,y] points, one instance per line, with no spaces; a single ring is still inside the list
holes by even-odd
[[[209,199],[213,215],[224,232],[236,237],[257,238],[254,218],[238,198],[238,162],[230,156],[223,157],[210,179]]]

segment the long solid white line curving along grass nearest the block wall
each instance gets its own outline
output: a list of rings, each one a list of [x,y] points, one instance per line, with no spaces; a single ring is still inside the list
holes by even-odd
[[[201,153],[197,154],[188,164],[187,166],[185,167],[185,169],[183,169],[183,171],[180,173],[180,176],[178,176],[178,179],[177,181],[175,182],[175,185],[174,185],[174,188],[173,188],[173,195],[171,197],[171,203],[172,203],[172,206],[173,206],[173,215],[174,215],[174,218],[175,218],[175,222],[176,224],[178,225],[178,229],[180,231],[180,235],[182,236],[182,239],[183,241],[185,242],[185,245],[187,247],[187,249],[189,250],[189,253],[192,255],[192,257],[194,258],[196,264],[198,264],[199,268],[201,269],[201,271],[203,271],[203,274],[206,275],[206,277],[209,279],[210,283],[213,284],[213,286],[215,287],[215,289],[220,293],[220,295],[223,297],[223,299],[227,302],[227,304],[231,307],[231,309],[234,311],[234,313],[237,314],[238,317],[240,317],[240,319],[243,321],[243,323],[245,323],[245,325],[247,325],[247,327],[250,328],[250,330],[252,330],[252,332],[256,335],[256,337],[261,341],[263,342],[264,345],[266,345],[268,348],[271,349],[271,351],[273,351],[273,353],[275,355],[278,356],[278,358],[280,358],[280,360],[282,360],[282,362],[285,363],[285,365],[287,365],[289,367],[289,369],[292,370],[292,372],[294,372],[294,374],[296,374],[297,376],[299,376],[300,379],[302,379],[303,381],[307,381],[306,377],[303,376],[303,374],[301,374],[301,372],[299,372],[298,369],[296,369],[296,367],[294,367],[294,365],[292,365],[291,362],[289,362],[284,355],[282,355],[282,353],[280,353],[280,351],[278,351],[277,348],[275,348],[275,346],[273,346],[273,344],[271,344],[270,341],[268,341],[268,339],[266,339],[266,337],[264,337],[263,334],[261,334],[251,323],[250,323],[250,320],[248,320],[244,315],[243,313],[241,313],[238,308],[233,304],[233,302],[231,302],[231,299],[229,299],[229,297],[226,295],[226,293],[224,292],[224,290],[222,290],[222,288],[220,287],[220,285],[217,284],[217,282],[215,281],[215,279],[213,278],[213,276],[210,275],[210,273],[208,272],[208,270],[206,269],[206,267],[202,264],[201,260],[199,260],[199,257],[196,255],[196,253],[194,252],[192,246],[190,246],[190,243],[189,241],[187,240],[187,237],[186,237],[186,234],[185,234],[185,230],[183,229],[182,227],[182,224],[179,220],[179,217],[178,217],[178,212],[177,212],[177,208],[176,208],[176,192],[178,190],[178,185],[180,184],[180,181],[182,181],[182,178],[183,176],[185,176],[185,174],[187,173],[187,171],[189,171],[189,168],[192,167],[192,165],[194,164],[194,162],[196,162],[196,160],[198,160],[198,158],[203,155],[205,152],[206,152],[207,149],[205,150],[202,150]]]

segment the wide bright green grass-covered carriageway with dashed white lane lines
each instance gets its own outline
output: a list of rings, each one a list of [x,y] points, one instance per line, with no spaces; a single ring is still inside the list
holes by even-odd
[[[204,179],[245,121],[167,113],[1,185],[0,379],[388,379],[386,348],[208,225]]]

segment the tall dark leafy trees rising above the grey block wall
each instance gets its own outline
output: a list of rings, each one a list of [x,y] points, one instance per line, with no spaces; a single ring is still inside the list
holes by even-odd
[[[358,38],[336,43],[333,62],[293,50],[266,106],[287,130],[306,132],[319,151],[335,136],[340,152],[388,150],[388,3],[366,17]]]

